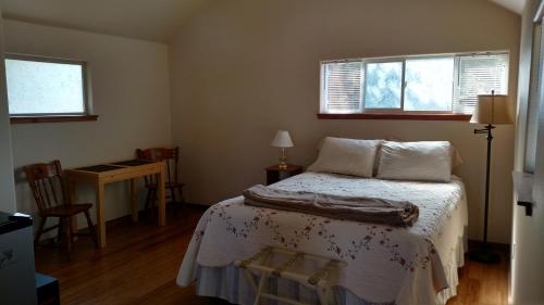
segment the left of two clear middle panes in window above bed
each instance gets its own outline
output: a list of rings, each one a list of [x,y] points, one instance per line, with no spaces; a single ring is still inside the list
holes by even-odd
[[[367,64],[364,107],[399,109],[403,63]]]

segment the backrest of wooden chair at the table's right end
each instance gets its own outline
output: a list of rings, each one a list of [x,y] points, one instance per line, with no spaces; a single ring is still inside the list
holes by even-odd
[[[180,148],[151,148],[136,150],[136,157],[147,161],[163,161],[166,164],[166,182],[178,182],[177,167],[180,163]],[[154,183],[154,178],[146,177],[146,182]]]

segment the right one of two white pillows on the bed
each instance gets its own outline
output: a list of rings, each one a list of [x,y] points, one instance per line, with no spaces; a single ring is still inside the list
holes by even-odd
[[[376,178],[449,182],[452,154],[447,141],[382,143]]]

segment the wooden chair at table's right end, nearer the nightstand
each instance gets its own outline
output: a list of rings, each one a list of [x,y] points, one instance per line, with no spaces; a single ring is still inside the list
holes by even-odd
[[[180,192],[180,202],[183,200],[183,187],[185,183],[180,182],[177,176],[177,168],[180,165],[180,149],[176,148],[151,148],[147,150],[136,150],[136,157],[146,161],[163,161],[166,164],[166,190],[170,190],[172,202],[176,202],[176,190]],[[149,208],[154,204],[157,199],[157,177],[154,175],[145,177],[146,188],[148,189],[146,196],[146,206]]]

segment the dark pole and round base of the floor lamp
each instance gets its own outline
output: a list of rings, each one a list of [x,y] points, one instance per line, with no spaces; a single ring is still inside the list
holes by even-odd
[[[497,253],[493,252],[487,244],[487,213],[490,209],[490,180],[491,180],[491,142],[493,141],[492,130],[495,126],[487,124],[482,129],[474,129],[474,134],[486,134],[487,139],[487,161],[485,166],[485,214],[483,218],[483,243],[480,249],[471,251],[469,257],[471,260],[494,264],[499,262]]]

